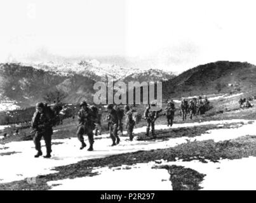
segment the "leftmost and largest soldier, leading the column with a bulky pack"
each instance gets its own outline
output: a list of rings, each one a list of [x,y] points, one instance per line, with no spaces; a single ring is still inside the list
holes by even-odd
[[[41,151],[41,138],[44,138],[46,145],[46,155],[44,158],[51,157],[51,135],[53,134],[52,117],[49,110],[46,110],[43,103],[36,104],[36,112],[34,113],[31,121],[31,127],[34,129],[34,143],[36,146],[37,154],[34,157],[43,155]]]

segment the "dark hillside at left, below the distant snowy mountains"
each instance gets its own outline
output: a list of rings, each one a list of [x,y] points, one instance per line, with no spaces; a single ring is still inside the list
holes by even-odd
[[[0,100],[17,101],[21,107],[34,105],[54,89],[67,93],[66,100],[72,103],[91,101],[93,84],[83,75],[59,75],[17,63],[0,64]]]

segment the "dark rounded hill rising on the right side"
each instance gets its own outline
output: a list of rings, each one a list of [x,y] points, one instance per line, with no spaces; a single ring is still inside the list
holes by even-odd
[[[177,77],[163,82],[163,96],[175,98],[245,92],[255,88],[255,79],[256,67],[250,63],[208,63],[187,70]]]

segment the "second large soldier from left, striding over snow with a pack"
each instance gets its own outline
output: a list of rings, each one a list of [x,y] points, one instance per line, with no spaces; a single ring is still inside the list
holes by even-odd
[[[91,112],[91,109],[88,108],[86,101],[83,101],[80,104],[81,109],[78,112],[78,126],[77,126],[77,138],[79,141],[81,141],[82,145],[80,149],[82,150],[84,147],[86,147],[86,143],[84,143],[84,137],[83,134],[87,134],[88,140],[90,143],[90,147],[88,148],[88,151],[93,150],[93,129],[95,128],[95,124],[93,122],[93,115]]]

